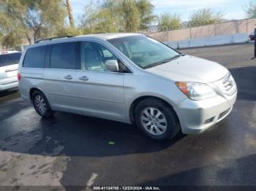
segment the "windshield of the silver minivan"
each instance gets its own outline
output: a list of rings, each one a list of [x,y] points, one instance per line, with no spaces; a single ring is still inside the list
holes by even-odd
[[[179,52],[165,44],[143,35],[109,39],[108,42],[143,69],[169,62],[181,56]]]

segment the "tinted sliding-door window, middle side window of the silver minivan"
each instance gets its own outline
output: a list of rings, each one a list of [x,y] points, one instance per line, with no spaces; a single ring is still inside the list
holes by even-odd
[[[51,69],[77,69],[78,43],[53,44],[50,54]]]

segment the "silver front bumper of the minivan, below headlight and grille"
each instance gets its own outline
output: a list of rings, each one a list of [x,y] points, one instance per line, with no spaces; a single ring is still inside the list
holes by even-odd
[[[237,90],[233,95],[222,97],[217,95],[201,101],[192,101],[187,98],[175,107],[181,122],[182,133],[201,133],[231,112],[236,102]]]

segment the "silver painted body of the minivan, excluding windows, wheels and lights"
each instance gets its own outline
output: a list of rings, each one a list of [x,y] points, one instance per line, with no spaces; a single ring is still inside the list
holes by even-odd
[[[184,55],[150,69],[141,69],[107,41],[107,39],[129,35],[135,34],[77,36],[32,45],[31,47],[64,42],[97,42],[116,55],[130,72],[122,74],[60,69],[41,69],[39,72],[34,69],[27,70],[22,67],[25,51],[19,65],[22,76],[19,83],[21,95],[29,100],[29,90],[38,87],[42,93],[45,93],[54,110],[127,123],[132,123],[130,112],[133,103],[138,98],[151,96],[162,99],[173,108],[184,133],[200,133],[230,113],[236,101],[237,91],[230,96],[219,91],[214,98],[195,101],[181,93],[175,84],[176,81],[203,82],[211,86],[213,82],[229,74],[225,67],[201,58]],[[71,75],[72,79],[64,79],[66,75]],[[84,76],[88,80],[79,79]],[[225,112],[227,109],[229,109],[228,112]],[[225,115],[218,119],[217,117],[223,112]],[[214,120],[205,124],[211,116]]]

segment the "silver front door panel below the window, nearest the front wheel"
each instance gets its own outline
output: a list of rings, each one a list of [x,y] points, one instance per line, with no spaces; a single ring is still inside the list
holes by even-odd
[[[84,81],[81,77],[88,80]],[[124,74],[77,71],[76,86],[83,114],[125,120]]]

